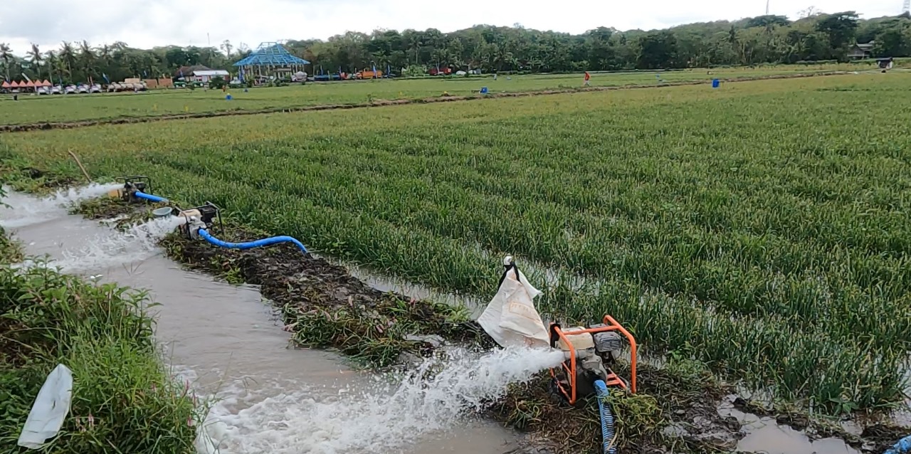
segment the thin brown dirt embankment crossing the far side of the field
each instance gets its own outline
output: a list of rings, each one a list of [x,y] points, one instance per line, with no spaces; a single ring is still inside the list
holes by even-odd
[[[778,79],[778,78],[800,78],[800,77],[818,77],[818,76],[835,76],[839,74],[847,74],[842,71],[829,71],[829,72],[820,72],[820,73],[799,73],[799,74],[779,74],[779,75],[770,75],[770,76],[760,76],[760,77],[730,77],[722,79],[723,82],[747,82],[751,80],[767,80],[767,79]],[[61,121],[61,122],[39,122],[39,123],[26,123],[26,124],[15,124],[15,125],[0,125],[0,132],[22,132],[22,131],[32,131],[32,130],[42,130],[42,129],[74,129],[74,128],[85,128],[88,126],[98,126],[98,125],[119,125],[127,123],[148,123],[150,121],[163,121],[169,119],[208,119],[213,117],[230,117],[235,115],[260,115],[260,114],[269,114],[269,113],[281,113],[281,112],[308,112],[312,110],[338,110],[344,108],[376,108],[384,106],[403,106],[406,104],[428,104],[436,102],[453,102],[453,101],[467,101],[475,99],[488,99],[488,98],[517,98],[517,97],[528,97],[528,96],[544,96],[544,95],[562,95],[567,93],[582,93],[589,91],[609,91],[609,90],[622,90],[622,89],[637,89],[637,88],[664,88],[664,87],[681,87],[689,85],[704,85],[706,84],[705,80],[692,80],[692,81],[681,81],[681,82],[665,82],[661,84],[650,84],[650,85],[626,85],[618,87],[589,87],[589,88],[562,88],[562,89],[546,89],[546,90],[535,90],[535,91],[512,91],[512,92],[500,92],[500,93],[490,93],[487,95],[471,95],[471,96],[440,96],[434,98],[417,98],[417,99],[375,99],[370,102],[364,103],[353,103],[353,104],[324,104],[318,106],[298,106],[298,107],[283,107],[283,108],[260,108],[254,110],[218,110],[211,112],[198,112],[198,113],[187,113],[187,114],[169,114],[169,115],[158,115],[158,116],[149,116],[149,117],[121,117],[116,119],[87,119],[81,121]]]

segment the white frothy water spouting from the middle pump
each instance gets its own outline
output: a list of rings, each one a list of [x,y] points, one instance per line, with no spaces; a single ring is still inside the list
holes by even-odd
[[[20,268],[46,266],[61,273],[101,271],[118,264],[138,262],[158,253],[158,242],[179,225],[182,217],[169,216],[133,224],[126,232],[110,230],[97,233],[77,249],[65,249],[63,259],[48,262],[27,260]]]

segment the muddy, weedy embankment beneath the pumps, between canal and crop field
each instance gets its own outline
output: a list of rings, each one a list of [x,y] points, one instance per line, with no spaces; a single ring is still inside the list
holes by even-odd
[[[159,205],[152,205],[155,207]],[[148,219],[148,205],[128,206],[99,199],[79,208],[91,219],[127,215],[124,222]],[[241,242],[267,235],[229,224],[220,239]],[[332,347],[367,366],[389,366],[425,356],[444,342],[489,348],[490,339],[466,314],[446,304],[382,293],[354,278],[343,266],[303,254],[289,244],[248,251],[226,250],[172,234],[162,245],[169,257],[190,269],[231,283],[257,284],[280,313],[297,346]],[[618,370],[626,376],[628,371]],[[736,418],[722,417],[718,405],[734,394],[697,364],[673,363],[663,368],[640,364],[639,393],[610,397],[616,418],[615,444],[623,453],[733,452],[744,432]],[[780,424],[806,430],[812,438],[836,437],[865,452],[881,452],[904,434],[900,428],[876,425],[860,437],[822,426],[796,413],[766,409],[737,398],[734,406]],[[527,385],[509,388],[492,403],[488,416],[526,432],[539,446],[557,453],[600,452],[597,402],[568,407],[550,389],[547,372]],[[526,452],[526,451],[523,451]],[[535,449],[527,452],[542,452]]]

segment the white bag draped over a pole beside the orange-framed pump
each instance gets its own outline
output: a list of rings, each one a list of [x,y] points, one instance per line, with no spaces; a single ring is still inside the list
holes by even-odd
[[[550,334],[533,301],[539,294],[525,274],[509,264],[499,290],[477,322],[503,347],[550,346]]]

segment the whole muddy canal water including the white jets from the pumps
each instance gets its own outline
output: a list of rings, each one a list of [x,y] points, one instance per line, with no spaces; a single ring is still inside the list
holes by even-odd
[[[38,200],[11,193],[0,225],[30,255],[67,273],[145,289],[161,305],[157,339],[175,374],[214,397],[200,452],[502,453],[515,434],[471,418],[507,383],[555,366],[559,353],[460,349],[404,377],[354,372],[332,353],[295,349],[252,286],[190,273],[163,257],[156,241],[179,221],[155,220],[115,232],[67,214],[67,203],[112,189],[93,186]],[[23,263],[41,266],[43,263]],[[434,378],[425,376],[433,372]],[[393,378],[392,380],[390,378]]]

